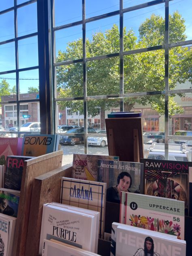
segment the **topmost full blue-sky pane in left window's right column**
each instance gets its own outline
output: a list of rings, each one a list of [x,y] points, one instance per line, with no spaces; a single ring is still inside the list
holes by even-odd
[[[18,36],[37,32],[36,2],[17,9]]]

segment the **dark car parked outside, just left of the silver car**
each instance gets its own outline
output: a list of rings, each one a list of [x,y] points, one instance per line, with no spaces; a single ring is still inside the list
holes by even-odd
[[[87,128],[88,133],[97,133],[93,128]],[[73,128],[68,130],[68,133],[75,133],[75,135],[66,135],[60,137],[60,144],[69,144],[74,146],[76,143],[84,142],[84,127]]]

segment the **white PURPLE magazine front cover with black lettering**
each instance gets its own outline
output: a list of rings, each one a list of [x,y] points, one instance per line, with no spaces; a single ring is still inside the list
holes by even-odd
[[[43,239],[51,238],[94,252],[94,216],[63,207],[43,205],[39,254]]]

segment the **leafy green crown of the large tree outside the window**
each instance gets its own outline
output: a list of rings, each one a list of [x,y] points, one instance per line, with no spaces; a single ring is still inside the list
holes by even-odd
[[[176,11],[169,15],[170,43],[186,39],[184,19]],[[139,38],[133,30],[124,28],[124,51],[141,49],[164,44],[164,18],[152,14],[139,27]],[[86,57],[94,57],[119,52],[119,29],[114,24],[111,29],[96,32],[92,40],[86,40]],[[82,39],[68,42],[65,52],[58,52],[57,62],[82,58]],[[164,91],[164,49],[124,56],[124,93]],[[174,47],[169,50],[169,89],[173,90],[178,82],[192,81],[192,53],[187,47]],[[190,66],[188,66],[190,64]],[[87,68],[87,96],[113,95],[120,93],[119,58],[89,61]],[[83,64],[58,66],[57,84],[59,97],[83,97]],[[135,103],[151,105],[160,114],[164,113],[164,95],[143,96],[124,99],[124,108],[130,111]],[[98,109],[105,110],[119,105],[119,100],[90,100],[88,114],[96,115]],[[83,101],[63,101],[62,108],[72,107],[73,111],[83,113]],[[181,113],[174,95],[169,96],[169,114]]]

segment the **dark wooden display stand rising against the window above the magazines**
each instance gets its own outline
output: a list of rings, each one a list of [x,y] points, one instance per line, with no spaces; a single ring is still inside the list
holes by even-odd
[[[107,118],[105,125],[110,156],[128,162],[143,158],[141,117]]]

